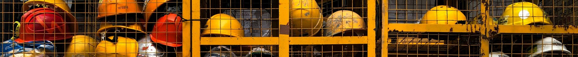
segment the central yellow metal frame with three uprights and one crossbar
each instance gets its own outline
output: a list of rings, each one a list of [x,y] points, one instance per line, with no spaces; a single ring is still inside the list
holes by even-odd
[[[289,57],[291,44],[368,44],[368,49],[375,49],[375,2],[368,0],[368,36],[290,37],[290,0],[280,0],[279,37],[201,37],[200,1],[183,1],[183,18],[191,20],[183,22],[183,56],[202,55],[199,49],[201,45],[279,45],[279,57]],[[255,40],[260,42],[254,42]],[[375,54],[375,50],[368,50],[369,57],[374,57]]]

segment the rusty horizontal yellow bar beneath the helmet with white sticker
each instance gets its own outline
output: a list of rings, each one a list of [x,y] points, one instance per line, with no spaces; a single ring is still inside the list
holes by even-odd
[[[576,34],[578,26],[553,26],[553,25],[497,25],[498,33],[552,33],[552,34]]]

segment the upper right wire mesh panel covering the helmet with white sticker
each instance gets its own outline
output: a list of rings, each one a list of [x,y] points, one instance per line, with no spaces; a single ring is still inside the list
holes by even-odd
[[[498,25],[578,25],[573,0],[490,0]]]

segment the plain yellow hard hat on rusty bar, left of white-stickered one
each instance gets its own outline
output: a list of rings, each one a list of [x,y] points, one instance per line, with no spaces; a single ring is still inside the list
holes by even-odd
[[[420,23],[424,24],[448,24],[454,25],[458,22],[465,24],[466,16],[464,13],[451,6],[436,6],[429,9],[421,19]]]

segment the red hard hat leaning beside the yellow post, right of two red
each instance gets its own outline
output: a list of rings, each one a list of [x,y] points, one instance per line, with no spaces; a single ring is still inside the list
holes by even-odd
[[[157,24],[153,27],[153,32],[150,36],[153,42],[161,43],[166,46],[179,47],[182,43],[167,43],[167,42],[182,42],[183,25],[181,17],[177,14],[166,14],[157,20]]]

